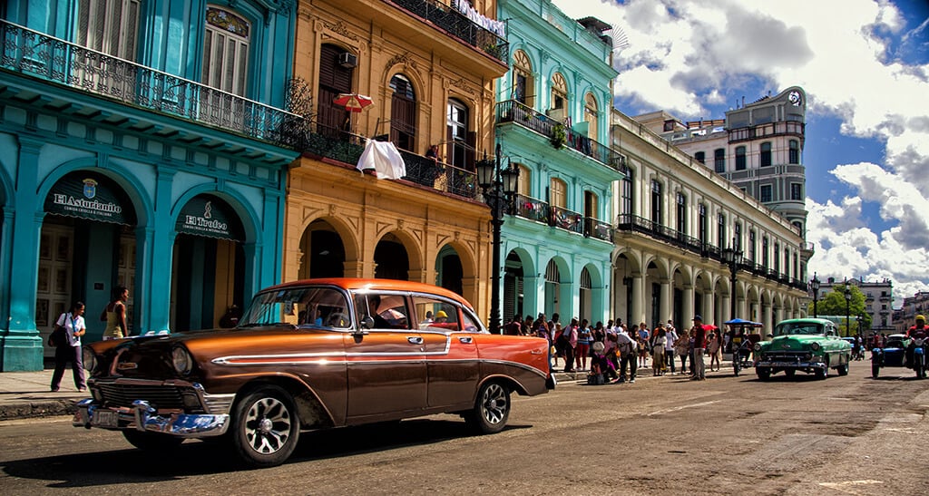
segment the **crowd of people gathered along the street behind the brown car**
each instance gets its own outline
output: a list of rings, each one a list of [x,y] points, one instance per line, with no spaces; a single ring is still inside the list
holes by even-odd
[[[504,332],[548,339],[552,370],[559,368],[560,360],[564,372],[602,374],[604,380],[616,383],[635,383],[636,371],[648,368],[649,363],[653,375],[681,373],[701,381],[706,378],[704,356],[711,371],[719,370],[728,346],[728,336],[715,326],[705,326],[699,315],[688,329],[677,329],[672,320],[651,329],[641,322],[630,329],[622,319],[608,320],[605,325],[574,318],[564,325],[557,313],[551,319],[543,313],[525,319],[517,315],[506,323]]]

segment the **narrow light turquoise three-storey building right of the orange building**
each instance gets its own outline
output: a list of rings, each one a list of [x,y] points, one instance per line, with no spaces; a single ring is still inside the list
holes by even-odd
[[[609,319],[611,185],[623,157],[609,146],[610,26],[572,20],[550,0],[500,0],[510,71],[496,84],[495,133],[519,188],[502,228],[504,322],[555,312]],[[507,162],[508,161],[508,162]]]

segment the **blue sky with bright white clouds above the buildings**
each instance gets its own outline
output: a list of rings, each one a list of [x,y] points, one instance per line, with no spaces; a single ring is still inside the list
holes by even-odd
[[[929,291],[929,2],[553,0],[628,39],[614,104],[721,119],[791,85],[807,95],[809,271]],[[619,36],[617,36],[619,38]]]

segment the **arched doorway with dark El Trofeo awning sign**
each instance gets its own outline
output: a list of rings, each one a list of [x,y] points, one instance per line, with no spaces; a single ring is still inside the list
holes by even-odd
[[[177,215],[171,276],[171,329],[210,329],[244,305],[242,221],[228,202],[200,194]]]

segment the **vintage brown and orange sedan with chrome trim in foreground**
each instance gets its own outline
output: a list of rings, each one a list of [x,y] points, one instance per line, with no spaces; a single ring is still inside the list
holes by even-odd
[[[73,424],[140,449],[226,439],[245,463],[283,463],[301,430],[450,412],[504,428],[510,394],[551,384],[546,340],[488,333],[451,291],[325,279],[255,295],[233,329],[85,346],[93,398]]]

